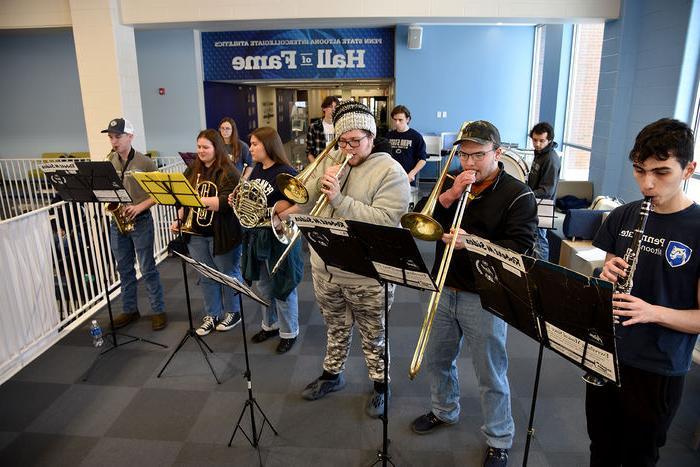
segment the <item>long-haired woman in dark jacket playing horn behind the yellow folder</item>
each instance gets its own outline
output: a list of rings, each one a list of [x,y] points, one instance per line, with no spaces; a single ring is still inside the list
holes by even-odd
[[[216,186],[216,193],[201,198],[206,208],[191,213],[191,228],[195,234],[187,235],[190,256],[243,282],[241,227],[227,203],[228,195],[238,185],[240,173],[229,159],[224,140],[216,130],[203,130],[197,135],[197,159],[187,167],[185,177],[193,187],[203,182]],[[198,221],[198,216],[204,213],[207,215]],[[180,208],[170,230],[178,232],[188,215],[189,208]],[[208,219],[211,219],[210,225],[206,225]],[[241,321],[241,305],[235,290],[204,276],[200,277],[199,284],[204,296],[204,318],[197,334],[206,336],[215,329],[228,331],[236,326]]]

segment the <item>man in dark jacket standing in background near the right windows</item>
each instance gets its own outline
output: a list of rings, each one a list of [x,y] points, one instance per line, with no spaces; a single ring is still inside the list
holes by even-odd
[[[527,177],[527,185],[535,193],[535,198],[554,199],[559,183],[561,160],[554,148],[554,128],[547,122],[540,122],[530,130],[530,139],[535,148],[535,158]],[[537,229],[535,252],[539,259],[549,261],[547,229]]]

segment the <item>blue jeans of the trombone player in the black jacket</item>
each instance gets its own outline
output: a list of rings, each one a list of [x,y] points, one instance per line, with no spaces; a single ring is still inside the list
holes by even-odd
[[[479,384],[482,433],[487,444],[508,449],[515,424],[511,415],[506,323],[481,308],[479,296],[445,287],[426,350],[432,411],[442,421],[459,418],[457,357],[465,338]]]

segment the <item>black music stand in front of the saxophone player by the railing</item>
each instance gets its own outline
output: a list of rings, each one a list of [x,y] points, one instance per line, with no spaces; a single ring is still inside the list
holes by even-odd
[[[117,172],[111,162],[85,162],[85,161],[56,161],[42,164],[42,170],[48,175],[53,187],[58,191],[64,201],[73,203],[130,203],[131,196],[124,188],[121,180],[117,176]],[[105,258],[107,255],[105,255]],[[144,339],[143,337],[133,336],[116,332],[114,329],[114,317],[112,315],[112,301],[110,299],[109,281],[107,280],[107,271],[109,270],[106,264],[106,259],[102,264],[104,268],[103,287],[105,297],[107,299],[107,313],[109,315],[109,331],[103,334],[104,340],[112,344],[108,349],[104,349],[97,356],[97,359],[90,365],[90,368],[85,372],[83,381],[87,381],[99,359],[108,352],[122,345],[131,344],[132,342],[146,342],[153,345],[158,345],[167,348],[167,345],[158,342]],[[109,337],[111,336],[111,340]],[[117,337],[126,337],[128,340],[119,342]]]

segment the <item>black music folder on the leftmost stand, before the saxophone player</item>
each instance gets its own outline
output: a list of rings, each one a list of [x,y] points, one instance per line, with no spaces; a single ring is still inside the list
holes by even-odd
[[[41,170],[64,201],[130,203],[117,171],[109,161],[58,160],[44,162]]]

